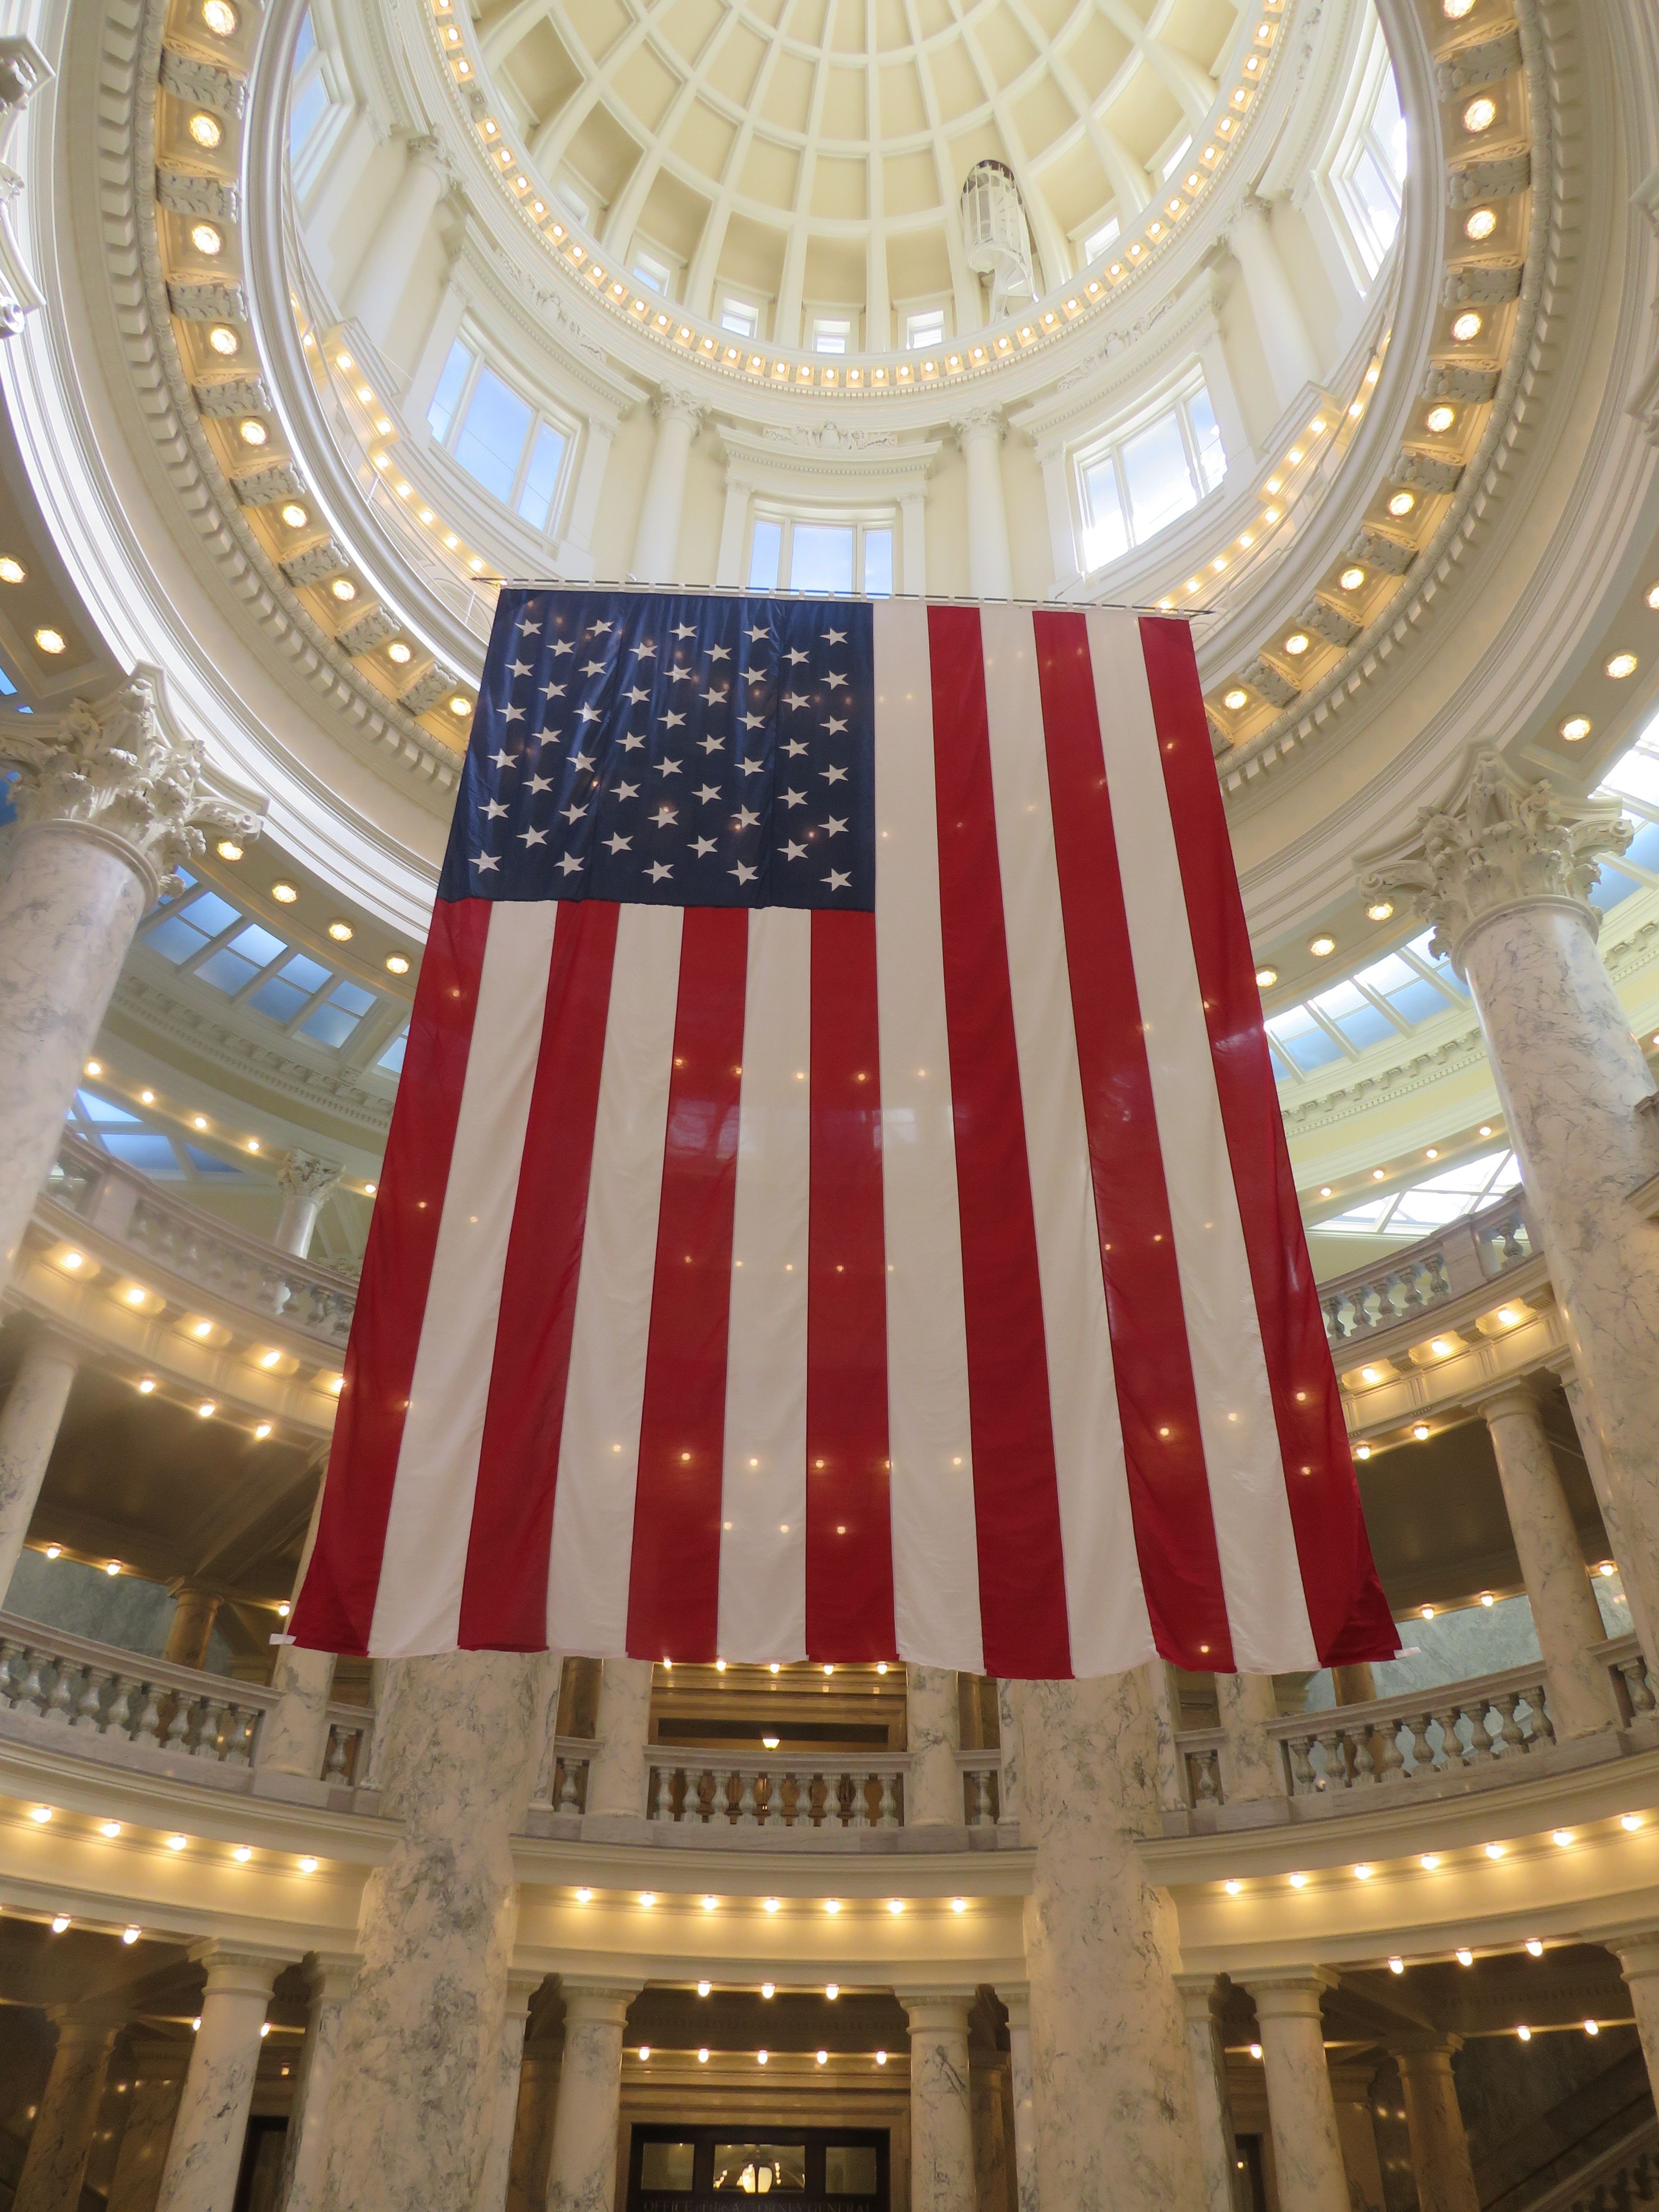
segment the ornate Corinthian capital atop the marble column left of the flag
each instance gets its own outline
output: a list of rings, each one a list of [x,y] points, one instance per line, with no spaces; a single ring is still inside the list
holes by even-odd
[[[0,730],[0,759],[18,768],[11,805],[27,830],[80,830],[115,847],[150,898],[177,889],[175,869],[204,849],[210,830],[259,834],[257,814],[206,787],[201,745],[161,728],[144,679]]]

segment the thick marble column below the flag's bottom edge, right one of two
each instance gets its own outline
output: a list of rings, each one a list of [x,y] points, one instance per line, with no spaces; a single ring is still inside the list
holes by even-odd
[[[1015,1683],[1015,1710],[1044,2212],[1203,2203],[1175,1905],[1137,1849],[1161,1827],[1148,1670]]]

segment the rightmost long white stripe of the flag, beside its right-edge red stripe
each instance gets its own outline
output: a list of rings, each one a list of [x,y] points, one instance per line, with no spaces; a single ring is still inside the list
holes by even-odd
[[[1139,622],[1091,613],[1088,655],[1232,1657],[1250,1674],[1318,1666]]]

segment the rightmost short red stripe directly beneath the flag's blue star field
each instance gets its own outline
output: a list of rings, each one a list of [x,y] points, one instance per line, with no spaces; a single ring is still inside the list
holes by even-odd
[[[876,916],[812,916],[807,1659],[894,1659]]]

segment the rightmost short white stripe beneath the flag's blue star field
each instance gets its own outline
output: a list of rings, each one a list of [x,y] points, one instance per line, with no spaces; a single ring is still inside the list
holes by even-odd
[[[807,1655],[812,916],[750,914],[726,1349],[719,1652]]]

